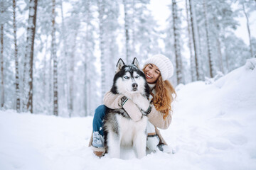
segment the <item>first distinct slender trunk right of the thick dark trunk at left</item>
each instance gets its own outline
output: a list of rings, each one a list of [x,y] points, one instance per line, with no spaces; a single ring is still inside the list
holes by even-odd
[[[53,0],[52,8],[52,42],[51,42],[51,55],[53,56],[53,114],[58,115],[58,62],[56,55],[56,42],[55,42],[55,0]]]

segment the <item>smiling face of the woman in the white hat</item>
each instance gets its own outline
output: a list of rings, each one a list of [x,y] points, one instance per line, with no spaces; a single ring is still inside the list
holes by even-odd
[[[146,82],[153,84],[159,78],[160,71],[155,64],[148,64],[144,69],[144,74],[146,75]]]

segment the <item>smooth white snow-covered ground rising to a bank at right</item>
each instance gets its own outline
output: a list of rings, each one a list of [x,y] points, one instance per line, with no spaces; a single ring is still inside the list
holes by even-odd
[[[0,169],[256,169],[255,66],[178,86],[173,121],[161,130],[175,154],[99,159],[87,147],[92,117],[0,111]]]

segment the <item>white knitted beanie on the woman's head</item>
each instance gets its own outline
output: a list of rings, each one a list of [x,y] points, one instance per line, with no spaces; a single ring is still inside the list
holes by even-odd
[[[164,55],[153,55],[145,61],[144,67],[146,66],[146,64],[155,64],[156,67],[159,68],[161,76],[164,81],[166,79],[171,78],[172,75],[174,74],[173,64],[171,63],[169,58],[167,58]]]

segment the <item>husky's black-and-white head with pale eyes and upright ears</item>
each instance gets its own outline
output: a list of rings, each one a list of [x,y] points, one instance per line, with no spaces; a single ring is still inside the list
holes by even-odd
[[[124,64],[122,59],[118,60],[111,91],[113,94],[141,93],[149,96],[149,86],[136,57],[130,65]]]

